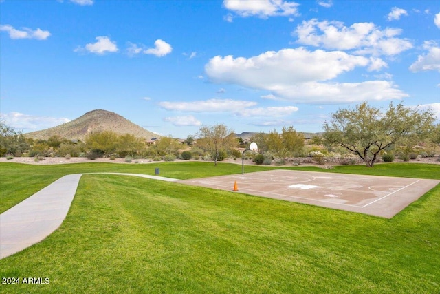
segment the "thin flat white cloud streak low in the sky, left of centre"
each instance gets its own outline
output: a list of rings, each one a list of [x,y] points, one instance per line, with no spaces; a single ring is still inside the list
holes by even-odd
[[[179,112],[233,112],[236,109],[255,106],[253,101],[238,101],[231,99],[209,99],[192,102],[169,102],[163,101],[159,106],[166,110]]]

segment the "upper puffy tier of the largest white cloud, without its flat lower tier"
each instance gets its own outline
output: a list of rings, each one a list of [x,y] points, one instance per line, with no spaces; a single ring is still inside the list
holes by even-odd
[[[215,56],[205,65],[205,70],[212,81],[276,90],[287,84],[327,81],[369,63],[369,59],[363,56],[341,51],[311,52],[305,48],[295,48],[268,51],[249,59],[231,55]]]

